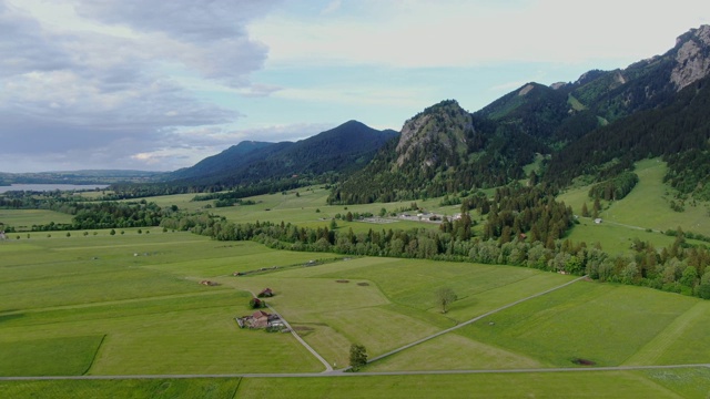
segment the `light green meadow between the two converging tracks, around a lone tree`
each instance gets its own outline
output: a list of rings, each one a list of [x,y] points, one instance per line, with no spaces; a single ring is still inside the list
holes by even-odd
[[[507,266],[355,258],[220,282],[253,293],[275,289],[268,304],[328,362],[344,365],[352,342],[382,355],[569,279]],[[435,304],[439,286],[460,298],[446,315]]]

